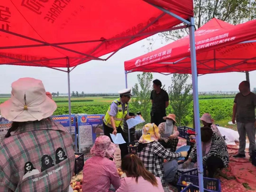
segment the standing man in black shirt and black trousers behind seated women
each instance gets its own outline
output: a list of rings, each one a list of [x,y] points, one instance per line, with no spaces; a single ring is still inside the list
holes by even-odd
[[[153,81],[154,90],[151,91],[150,99],[152,102],[151,109],[151,123],[155,123],[157,126],[165,122],[163,117],[166,116],[166,108],[169,105],[169,95],[163,89],[161,89],[162,83],[158,79]]]

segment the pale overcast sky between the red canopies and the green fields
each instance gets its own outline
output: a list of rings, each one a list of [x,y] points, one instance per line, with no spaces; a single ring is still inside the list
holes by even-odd
[[[161,44],[158,39],[153,50]],[[145,45],[144,47],[142,47]],[[71,91],[81,93],[117,93],[125,88],[124,61],[133,59],[147,53],[148,41],[146,39],[130,45],[111,57],[108,61],[90,61],[79,65],[70,73]],[[103,57],[106,58],[106,57]],[[0,93],[10,93],[11,83],[23,77],[41,79],[46,91],[67,93],[67,73],[39,67],[22,67],[0,65]],[[138,73],[128,74],[128,87],[137,82]],[[154,79],[159,79],[166,87],[170,86],[171,75],[153,73]],[[209,74],[198,79],[199,91],[238,91],[238,84],[245,80],[244,73]],[[256,87],[256,72],[250,72],[251,88]]]

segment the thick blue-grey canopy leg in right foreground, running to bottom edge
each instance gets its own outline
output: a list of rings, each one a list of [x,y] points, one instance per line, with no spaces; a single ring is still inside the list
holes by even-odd
[[[196,68],[196,46],[195,46],[195,21],[192,17],[191,25],[189,26],[189,40],[190,40],[190,56],[191,56],[191,71],[192,71],[192,84],[193,84],[193,108],[194,120],[196,129],[196,154],[197,154],[197,168],[199,178],[199,191],[204,191],[203,183],[203,162],[202,162],[202,143],[201,143],[201,130],[199,120],[199,101],[198,101],[198,81],[197,81],[197,68]]]

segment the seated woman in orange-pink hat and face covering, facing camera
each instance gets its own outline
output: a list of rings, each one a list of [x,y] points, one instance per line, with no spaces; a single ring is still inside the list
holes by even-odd
[[[160,138],[159,143],[166,149],[170,149],[171,152],[175,152],[178,144],[178,132],[177,127],[175,126],[175,114],[169,114],[167,117],[163,117],[166,122],[160,123],[158,125]]]

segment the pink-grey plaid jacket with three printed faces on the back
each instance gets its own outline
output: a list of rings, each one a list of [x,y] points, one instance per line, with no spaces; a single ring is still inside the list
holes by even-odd
[[[75,154],[66,129],[27,122],[0,144],[1,192],[68,192]]]

